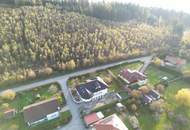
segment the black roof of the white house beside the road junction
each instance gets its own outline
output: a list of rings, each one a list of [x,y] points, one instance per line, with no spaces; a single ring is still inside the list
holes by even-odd
[[[93,93],[104,90],[107,87],[108,85],[106,83],[101,81],[99,78],[96,78],[87,83],[78,85],[76,89],[83,99],[90,99],[93,97]]]

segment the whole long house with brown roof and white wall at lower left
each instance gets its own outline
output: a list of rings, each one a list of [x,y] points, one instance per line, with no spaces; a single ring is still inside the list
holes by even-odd
[[[37,125],[43,121],[59,117],[61,105],[56,97],[31,104],[23,108],[24,121],[31,125]]]

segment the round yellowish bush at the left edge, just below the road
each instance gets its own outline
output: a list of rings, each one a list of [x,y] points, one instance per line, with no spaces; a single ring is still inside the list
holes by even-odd
[[[8,89],[3,91],[0,96],[2,99],[13,100],[16,97],[16,93],[13,90]]]

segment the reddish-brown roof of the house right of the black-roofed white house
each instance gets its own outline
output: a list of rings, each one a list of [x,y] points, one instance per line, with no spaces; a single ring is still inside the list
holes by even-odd
[[[129,83],[135,83],[146,79],[146,76],[144,74],[138,71],[132,71],[130,69],[124,69],[121,71],[121,76],[125,78]]]

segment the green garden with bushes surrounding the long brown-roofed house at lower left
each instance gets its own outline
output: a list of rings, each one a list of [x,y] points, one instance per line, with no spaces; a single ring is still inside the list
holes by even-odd
[[[51,83],[44,86],[40,86],[31,90],[23,92],[13,92],[12,90],[6,90],[1,94],[1,117],[0,117],[0,130],[28,130],[24,118],[22,109],[33,103],[37,103],[52,97],[57,97],[59,103],[65,106],[65,98],[61,92],[61,88],[58,83]],[[3,118],[3,111],[15,109],[17,114],[11,119]],[[58,119],[44,122],[35,127],[31,127],[31,130],[53,130],[54,128],[67,124],[71,120],[70,111],[62,112]]]

